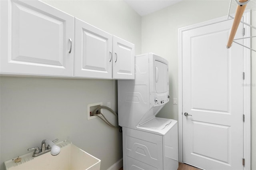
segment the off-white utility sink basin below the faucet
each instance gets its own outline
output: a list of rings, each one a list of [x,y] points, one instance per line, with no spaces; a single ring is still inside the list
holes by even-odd
[[[32,157],[33,152],[19,156],[20,162],[14,159],[4,162],[6,170],[100,170],[100,160],[84,152],[70,141],[62,141],[60,153],[52,156],[50,152]]]

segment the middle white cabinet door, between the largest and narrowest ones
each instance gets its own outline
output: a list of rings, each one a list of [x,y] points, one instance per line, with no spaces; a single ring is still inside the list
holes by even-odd
[[[75,18],[75,77],[112,79],[112,35]]]

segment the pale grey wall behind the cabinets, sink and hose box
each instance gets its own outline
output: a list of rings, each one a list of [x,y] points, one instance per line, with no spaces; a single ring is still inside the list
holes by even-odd
[[[141,17],[123,1],[56,0],[46,3],[135,44],[141,53]],[[0,77],[0,169],[3,162],[40,146],[43,139],[71,140],[101,159],[106,170],[122,158],[122,135],[100,119],[87,121],[87,105],[111,102],[114,80]],[[114,117],[105,111],[110,121]]]

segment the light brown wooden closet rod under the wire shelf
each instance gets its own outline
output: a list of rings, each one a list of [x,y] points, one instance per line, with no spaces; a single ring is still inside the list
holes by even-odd
[[[248,1],[248,0],[239,0],[239,2],[246,2],[246,1]],[[237,28],[240,24],[240,21],[241,21],[241,18],[243,16],[243,14],[244,14],[245,8],[246,8],[246,4],[238,5],[237,8],[236,8],[236,15],[235,15],[235,18],[234,18],[234,22],[233,22],[230,34],[229,34],[227,48],[230,48],[231,45],[232,45],[232,42],[233,42],[234,37],[236,35]]]

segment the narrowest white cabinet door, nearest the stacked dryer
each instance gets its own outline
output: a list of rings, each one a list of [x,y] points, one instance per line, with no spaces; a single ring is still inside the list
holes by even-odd
[[[134,44],[113,36],[113,79],[134,79]]]

